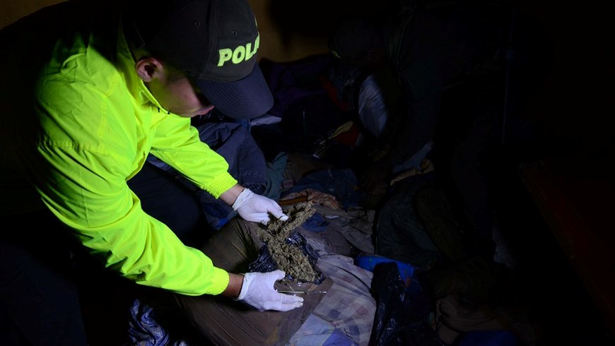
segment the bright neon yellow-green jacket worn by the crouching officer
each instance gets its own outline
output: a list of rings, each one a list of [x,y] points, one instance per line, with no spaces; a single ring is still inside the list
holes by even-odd
[[[105,41],[81,32],[57,41],[35,89],[34,124],[42,130],[35,155],[20,156],[13,142],[8,151],[18,165],[31,166],[25,172],[38,198],[105,266],[141,285],[219,294],[228,273],[141,210],[127,180],[153,153],[215,197],[237,181],[190,119],[160,107],[134,72],[121,28],[117,34]],[[3,199],[11,196],[4,190]]]

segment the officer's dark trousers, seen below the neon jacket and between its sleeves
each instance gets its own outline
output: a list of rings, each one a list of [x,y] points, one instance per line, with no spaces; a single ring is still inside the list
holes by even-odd
[[[185,244],[206,237],[209,225],[199,200],[167,173],[146,164],[129,186],[146,213],[165,222]],[[128,280],[105,273],[48,210],[1,219],[0,343],[88,345],[81,288],[98,285],[95,280],[107,280],[100,287]],[[83,285],[83,280],[94,283]]]

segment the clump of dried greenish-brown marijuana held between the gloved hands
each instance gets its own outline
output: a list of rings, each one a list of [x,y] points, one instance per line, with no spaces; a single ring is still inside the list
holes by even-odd
[[[319,277],[301,246],[292,241],[293,231],[314,213],[311,202],[297,203],[286,210],[288,220],[271,221],[266,228],[258,231],[276,266],[286,272],[286,278],[290,277],[293,281],[315,282]]]

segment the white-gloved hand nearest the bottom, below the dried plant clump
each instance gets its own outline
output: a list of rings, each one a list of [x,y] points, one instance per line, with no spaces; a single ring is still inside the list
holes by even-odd
[[[303,298],[278,293],[274,289],[276,280],[286,275],[282,270],[269,273],[245,273],[241,292],[237,300],[242,300],[258,311],[288,311],[303,306]]]

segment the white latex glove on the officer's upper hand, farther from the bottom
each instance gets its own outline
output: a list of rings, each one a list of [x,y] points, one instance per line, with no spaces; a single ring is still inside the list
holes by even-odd
[[[243,189],[235,203],[235,210],[246,221],[261,222],[265,225],[269,223],[269,213],[274,215],[276,219],[288,220],[288,216],[284,215],[282,207],[276,201],[266,198],[265,196],[257,195],[250,189]]]

